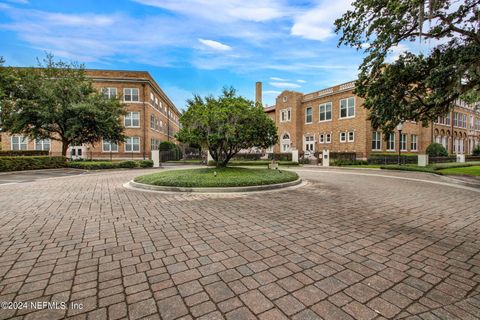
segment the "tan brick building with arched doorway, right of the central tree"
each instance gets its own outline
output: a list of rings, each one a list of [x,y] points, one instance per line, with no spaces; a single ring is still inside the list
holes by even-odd
[[[457,103],[454,110],[429,127],[406,121],[402,136],[374,131],[368,120],[363,99],[353,94],[355,82],[303,94],[283,91],[274,106],[265,112],[275,121],[279,143],[269,151],[354,152],[365,159],[372,153],[425,153],[432,141],[439,142],[449,153],[469,154],[480,144],[480,110]],[[261,86],[256,85],[256,98]]]

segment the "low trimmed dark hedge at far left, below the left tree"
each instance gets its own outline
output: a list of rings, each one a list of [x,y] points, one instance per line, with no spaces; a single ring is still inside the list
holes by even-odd
[[[23,171],[37,169],[63,168],[66,165],[64,157],[48,156],[17,156],[0,157],[0,171]]]

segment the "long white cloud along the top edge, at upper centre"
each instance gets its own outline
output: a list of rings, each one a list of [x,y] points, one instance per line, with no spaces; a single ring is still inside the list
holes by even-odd
[[[287,15],[287,10],[275,0],[133,0],[211,21],[269,21]]]

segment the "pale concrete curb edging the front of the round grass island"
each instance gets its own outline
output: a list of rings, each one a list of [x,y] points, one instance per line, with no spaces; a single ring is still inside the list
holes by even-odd
[[[248,186],[248,187],[224,187],[224,188],[182,188],[182,187],[167,187],[167,186],[154,186],[150,184],[138,183],[133,180],[128,182],[126,186],[132,189],[148,190],[148,191],[161,191],[161,192],[184,192],[184,193],[239,193],[239,192],[254,192],[265,190],[277,190],[284,189],[293,186],[297,186],[302,183],[302,179],[295,181],[268,184],[261,186]]]

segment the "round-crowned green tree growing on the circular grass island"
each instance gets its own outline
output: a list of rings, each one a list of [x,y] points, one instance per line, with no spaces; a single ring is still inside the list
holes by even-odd
[[[277,128],[260,105],[224,88],[218,98],[195,95],[180,118],[180,142],[208,149],[217,167],[225,167],[241,149],[277,143]]]

